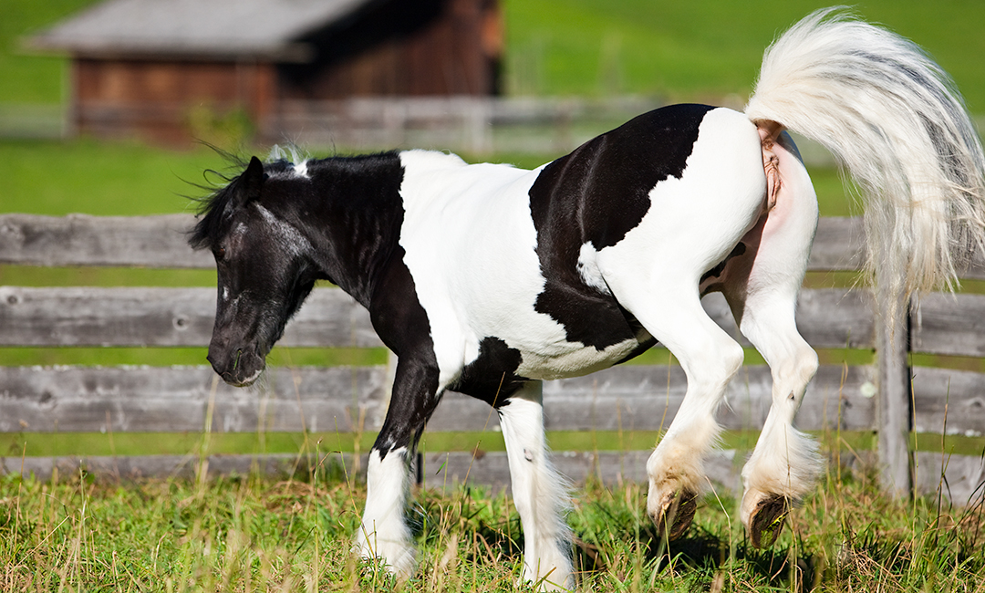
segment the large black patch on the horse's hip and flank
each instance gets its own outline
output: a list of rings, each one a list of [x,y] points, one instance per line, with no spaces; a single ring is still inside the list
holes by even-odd
[[[680,178],[713,107],[682,104],[644,113],[547,165],[530,188],[537,255],[546,279],[535,309],[564,326],[569,342],[597,350],[639,333],[615,297],[578,274],[581,245],[615,245],[650,209],[660,181]]]

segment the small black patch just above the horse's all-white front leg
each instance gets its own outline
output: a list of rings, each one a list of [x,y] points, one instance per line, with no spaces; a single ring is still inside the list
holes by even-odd
[[[520,351],[510,348],[499,338],[483,338],[479,343],[479,356],[466,364],[450,389],[499,407],[529,380],[516,374],[522,360]]]

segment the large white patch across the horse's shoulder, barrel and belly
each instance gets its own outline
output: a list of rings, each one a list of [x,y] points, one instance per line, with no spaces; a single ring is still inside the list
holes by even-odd
[[[427,311],[439,386],[453,382],[489,336],[518,350],[518,372],[536,379],[605,368],[638,345],[630,339],[599,351],[568,342],[563,325],[535,310],[545,279],[530,187],[540,169],[466,165],[425,151],[401,153],[400,159],[400,244]]]

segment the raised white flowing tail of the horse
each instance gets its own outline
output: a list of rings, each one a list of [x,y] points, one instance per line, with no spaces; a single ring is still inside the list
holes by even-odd
[[[940,66],[835,11],[812,13],[770,45],[746,114],[820,142],[858,183],[867,267],[891,318],[900,296],[952,288],[985,245],[985,157]]]

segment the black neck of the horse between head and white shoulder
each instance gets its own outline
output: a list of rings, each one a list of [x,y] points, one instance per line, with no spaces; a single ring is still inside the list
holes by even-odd
[[[324,279],[368,306],[376,277],[400,237],[400,161],[396,155],[379,155],[328,160],[323,166],[324,186],[315,192],[318,207],[305,221],[321,246],[318,265]]]

